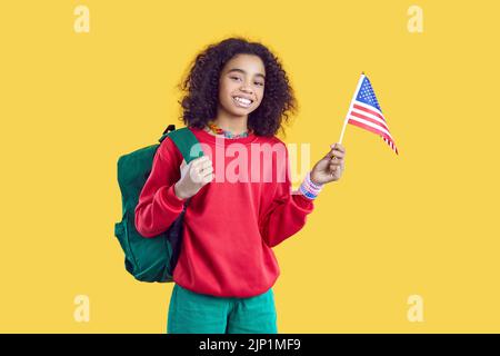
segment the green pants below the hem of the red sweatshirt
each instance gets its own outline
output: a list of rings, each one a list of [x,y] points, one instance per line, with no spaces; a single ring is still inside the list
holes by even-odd
[[[274,294],[226,298],[173,286],[168,334],[278,334]]]

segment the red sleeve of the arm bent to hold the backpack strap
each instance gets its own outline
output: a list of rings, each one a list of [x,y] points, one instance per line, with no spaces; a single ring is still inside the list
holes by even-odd
[[[158,147],[149,175],[136,206],[136,229],[143,237],[168,230],[180,215],[184,199],[179,199],[173,185],[180,179],[182,155],[167,137]]]

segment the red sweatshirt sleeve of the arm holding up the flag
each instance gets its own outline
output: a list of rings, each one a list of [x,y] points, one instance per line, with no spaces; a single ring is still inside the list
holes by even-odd
[[[291,190],[288,150],[286,152],[286,180],[278,184],[274,199],[260,224],[262,238],[269,247],[279,245],[299,231],[306,225],[307,216],[314,209],[311,199]]]

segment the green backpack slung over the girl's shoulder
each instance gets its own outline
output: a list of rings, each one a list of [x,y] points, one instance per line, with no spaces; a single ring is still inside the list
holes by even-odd
[[[200,149],[198,157],[190,156],[191,147],[199,141],[188,128],[176,130],[174,125],[169,125],[159,142],[161,144],[167,136],[179,148],[186,164],[203,155]],[[146,238],[136,229],[136,206],[142,187],[151,174],[154,154],[160,144],[138,149],[118,159],[118,182],[123,215],[122,220],[114,224],[114,236],[124,251],[126,269],[141,281],[172,281],[173,268],[182,243],[183,217],[190,200],[187,199],[182,212],[167,231]]]

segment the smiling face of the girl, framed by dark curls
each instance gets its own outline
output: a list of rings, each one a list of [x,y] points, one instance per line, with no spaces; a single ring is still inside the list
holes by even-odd
[[[231,116],[256,110],[264,92],[264,65],[254,55],[237,55],[222,68],[219,80],[219,109]]]

